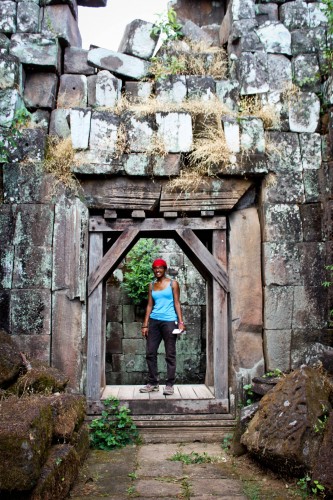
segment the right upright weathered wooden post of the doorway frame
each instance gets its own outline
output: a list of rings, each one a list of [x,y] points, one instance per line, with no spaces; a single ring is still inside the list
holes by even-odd
[[[226,232],[213,231],[212,253],[226,269]],[[227,293],[213,279],[214,387],[216,399],[228,399],[228,303]]]

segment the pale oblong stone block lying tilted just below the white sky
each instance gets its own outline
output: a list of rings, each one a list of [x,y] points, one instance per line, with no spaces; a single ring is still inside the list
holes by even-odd
[[[143,59],[101,48],[89,50],[88,62],[96,68],[107,69],[120,77],[134,80],[148,76],[150,66]]]

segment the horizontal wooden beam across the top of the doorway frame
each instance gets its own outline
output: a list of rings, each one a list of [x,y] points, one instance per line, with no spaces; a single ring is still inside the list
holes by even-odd
[[[116,219],[105,220],[100,216],[93,216],[89,221],[89,231],[92,232],[110,232],[124,231],[127,228],[134,227],[140,231],[175,231],[176,229],[226,229],[225,217],[213,217],[202,219],[201,217],[178,217],[178,218],[152,218],[144,220]]]

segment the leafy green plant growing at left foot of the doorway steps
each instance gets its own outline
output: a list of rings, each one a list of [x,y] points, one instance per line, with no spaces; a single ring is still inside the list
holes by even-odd
[[[138,431],[130,416],[130,410],[119,407],[119,400],[110,397],[103,401],[105,410],[100,418],[90,424],[90,442],[93,448],[113,450],[122,448],[138,438]]]

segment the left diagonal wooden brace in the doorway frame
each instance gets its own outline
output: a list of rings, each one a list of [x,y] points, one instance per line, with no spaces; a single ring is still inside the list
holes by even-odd
[[[112,247],[106,252],[97,267],[89,274],[88,295],[101,283],[103,278],[114,269],[126,253],[135,245],[138,240],[139,229],[129,227],[119,236]]]

